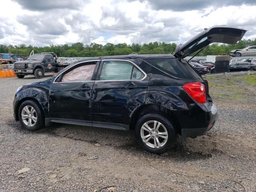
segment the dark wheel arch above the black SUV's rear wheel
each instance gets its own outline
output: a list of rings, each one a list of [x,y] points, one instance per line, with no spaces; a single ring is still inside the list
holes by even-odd
[[[149,113],[156,113],[156,114],[160,114],[162,116],[164,116],[165,118],[167,118],[172,125],[174,126],[174,128],[176,129],[176,131],[178,133],[181,132],[181,125],[180,122],[178,121],[178,118],[174,112],[174,110],[170,110],[169,108],[160,105],[160,104],[145,104],[143,106],[140,106],[133,114],[132,117],[130,119],[130,130],[134,130],[136,122],[145,114],[149,114]]]

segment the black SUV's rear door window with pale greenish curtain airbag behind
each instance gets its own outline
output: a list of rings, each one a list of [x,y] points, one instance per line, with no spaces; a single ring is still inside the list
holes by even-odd
[[[100,80],[140,80],[144,74],[128,61],[104,61]]]

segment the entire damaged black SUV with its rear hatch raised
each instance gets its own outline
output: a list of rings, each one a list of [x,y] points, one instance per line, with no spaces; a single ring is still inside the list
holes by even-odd
[[[236,43],[245,32],[209,28],[178,46],[174,55],[77,61],[48,80],[18,88],[14,118],[28,130],[51,122],[134,130],[142,148],[164,153],[177,134],[184,143],[210,130],[217,118],[207,81],[183,58],[212,42]]]

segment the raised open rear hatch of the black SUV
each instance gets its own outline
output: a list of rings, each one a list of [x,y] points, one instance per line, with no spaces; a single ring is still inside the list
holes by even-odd
[[[234,28],[228,26],[214,26],[204,30],[194,38],[188,40],[184,44],[179,44],[174,52],[174,56],[178,59],[194,53],[211,43],[236,44],[242,39],[245,32],[242,28]]]

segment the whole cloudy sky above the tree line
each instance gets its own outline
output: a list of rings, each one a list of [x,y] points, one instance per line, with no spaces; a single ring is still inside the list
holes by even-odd
[[[256,0],[0,0],[0,44],[184,43],[216,25],[256,38]]]

